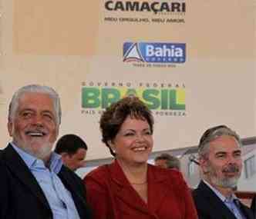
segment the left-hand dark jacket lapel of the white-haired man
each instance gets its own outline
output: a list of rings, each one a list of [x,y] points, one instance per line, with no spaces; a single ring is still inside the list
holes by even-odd
[[[46,200],[41,187],[25,162],[14,148],[12,148],[11,144],[8,144],[7,148],[4,149],[2,158],[9,170],[19,179],[19,181],[21,181],[25,187],[28,187],[29,191],[31,191],[35,197],[38,197],[39,201],[41,201],[42,204],[50,210],[49,203]]]

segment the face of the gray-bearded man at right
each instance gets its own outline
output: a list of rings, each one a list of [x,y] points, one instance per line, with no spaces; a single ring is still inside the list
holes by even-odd
[[[200,159],[206,180],[214,187],[235,187],[241,175],[241,149],[232,136],[210,142],[207,158]]]

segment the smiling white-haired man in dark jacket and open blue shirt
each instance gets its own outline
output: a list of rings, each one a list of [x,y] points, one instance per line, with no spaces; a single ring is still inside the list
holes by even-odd
[[[52,88],[27,85],[12,96],[12,142],[0,153],[0,219],[91,218],[82,180],[52,152],[60,122]]]

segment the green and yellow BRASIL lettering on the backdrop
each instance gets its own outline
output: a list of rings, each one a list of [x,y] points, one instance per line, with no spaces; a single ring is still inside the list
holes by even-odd
[[[104,109],[127,95],[136,95],[151,110],[184,111],[185,88],[82,88],[82,108]]]

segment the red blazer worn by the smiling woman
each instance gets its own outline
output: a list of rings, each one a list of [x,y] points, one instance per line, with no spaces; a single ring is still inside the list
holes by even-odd
[[[117,161],[86,175],[95,219],[197,219],[190,190],[179,171],[148,165],[148,202],[133,189]],[[215,218],[216,219],[216,218]]]

